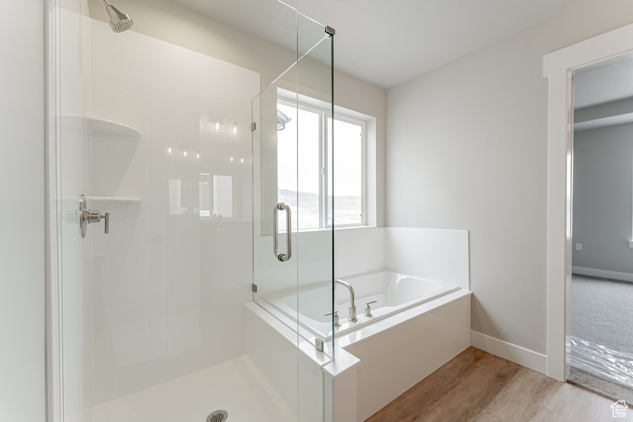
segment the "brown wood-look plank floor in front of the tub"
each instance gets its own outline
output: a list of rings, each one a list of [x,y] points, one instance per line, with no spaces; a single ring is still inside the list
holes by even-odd
[[[612,400],[468,347],[365,422],[598,422]]]

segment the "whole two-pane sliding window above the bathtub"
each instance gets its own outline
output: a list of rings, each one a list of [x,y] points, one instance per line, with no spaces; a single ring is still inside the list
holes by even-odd
[[[335,227],[365,224],[365,121],[334,114],[334,166],[330,128],[325,109],[277,102],[277,195],[292,210],[293,230],[332,227],[332,206]]]

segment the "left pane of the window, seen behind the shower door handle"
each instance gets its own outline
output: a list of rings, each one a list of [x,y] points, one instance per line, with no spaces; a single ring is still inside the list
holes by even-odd
[[[319,115],[285,104],[277,104],[277,109],[282,113],[277,119],[278,200],[290,206],[293,230],[318,228]],[[285,231],[283,212],[279,231]]]

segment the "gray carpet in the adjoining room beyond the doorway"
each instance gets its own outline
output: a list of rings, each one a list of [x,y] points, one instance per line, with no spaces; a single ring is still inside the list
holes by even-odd
[[[615,351],[633,353],[633,283],[572,275],[572,336]],[[573,351],[572,351],[573,353]],[[573,368],[568,381],[613,400],[631,400],[633,390]]]

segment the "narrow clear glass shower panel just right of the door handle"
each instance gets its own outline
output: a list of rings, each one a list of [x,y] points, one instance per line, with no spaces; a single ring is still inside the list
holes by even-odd
[[[323,352],[334,358],[334,228],[324,225],[326,119],[332,116],[332,42],[324,25],[297,14],[298,97],[298,227],[297,242],[299,332],[311,344],[323,344]],[[302,113],[303,111],[303,113]],[[320,125],[315,129],[316,120]],[[319,195],[311,195],[318,189]],[[318,210],[318,219],[317,211]],[[318,221],[318,229],[313,230]],[[312,226],[312,227],[310,227]],[[310,230],[312,229],[312,230]],[[303,369],[303,370],[302,370]],[[315,400],[323,388],[322,374],[299,366],[300,420],[323,413],[323,401]],[[303,416],[303,418],[302,418]],[[322,415],[325,420],[325,414]]]

